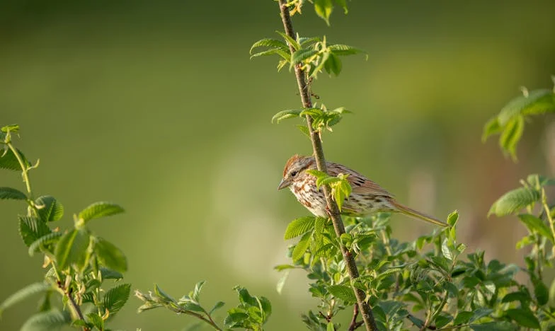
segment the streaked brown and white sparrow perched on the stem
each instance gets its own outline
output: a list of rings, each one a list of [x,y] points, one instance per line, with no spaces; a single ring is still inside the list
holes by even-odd
[[[372,182],[355,170],[345,167],[338,163],[326,162],[328,174],[336,176],[339,173],[348,174],[353,191],[343,202],[342,212],[353,216],[366,216],[379,211],[399,212],[422,219],[440,226],[447,226],[446,223],[435,219],[432,216],[408,208],[396,202],[393,195],[384,190],[377,183]],[[305,170],[316,169],[316,160],[312,156],[294,155],[283,169],[283,178],[277,190],[289,187],[299,202],[316,215],[327,217],[326,198],[324,192],[316,188],[316,178]]]

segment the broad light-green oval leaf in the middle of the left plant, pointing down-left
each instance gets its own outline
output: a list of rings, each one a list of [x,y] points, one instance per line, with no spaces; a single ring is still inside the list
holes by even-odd
[[[84,230],[74,229],[64,234],[54,252],[59,269],[66,269],[84,260],[90,239],[91,236]]]

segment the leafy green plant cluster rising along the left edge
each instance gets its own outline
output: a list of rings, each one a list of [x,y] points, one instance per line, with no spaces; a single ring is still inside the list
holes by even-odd
[[[123,252],[113,243],[98,237],[87,227],[87,221],[119,214],[123,209],[110,202],[97,202],[74,216],[73,226],[59,230],[64,215],[63,205],[50,195],[34,197],[29,172],[38,167],[13,146],[17,125],[0,129],[0,168],[21,171],[26,191],[0,187],[0,199],[17,199],[27,204],[27,213],[18,216],[19,234],[28,247],[29,255],[41,253],[48,268],[44,279],[25,286],[0,304],[0,313],[35,294],[41,294],[38,312],[23,325],[22,330],[52,330],[72,324],[83,330],[105,330],[129,298],[130,284],[111,289],[107,279],[122,279],[127,271]],[[16,167],[17,165],[17,167]],[[53,223],[55,222],[55,223]],[[51,225],[55,228],[51,228]],[[53,296],[62,298],[63,310]],[[84,311],[88,313],[84,315]]]

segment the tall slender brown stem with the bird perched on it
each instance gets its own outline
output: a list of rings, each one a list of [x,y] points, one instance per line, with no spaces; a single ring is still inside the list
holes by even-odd
[[[296,39],[293,25],[291,21],[291,16],[289,14],[289,8],[286,5],[285,0],[278,0],[280,5],[280,13],[283,23],[283,28],[285,29],[285,33]],[[292,45],[289,45],[291,54],[294,53],[294,48]],[[307,80],[305,79],[304,70],[301,69],[299,64],[294,66],[295,76],[297,77],[297,85],[299,86],[299,93],[301,95],[302,106],[303,108],[311,108],[312,107],[312,100],[310,97],[309,86],[307,84]],[[312,117],[307,115],[307,126],[309,127],[310,132],[310,140],[312,141],[312,149],[314,151],[314,158],[316,158],[316,166],[318,170],[327,173],[326,167],[326,159],[324,158],[324,149],[322,149],[322,141],[319,136],[319,132],[314,131],[312,128]],[[338,238],[341,237],[343,233],[345,233],[345,226],[343,226],[343,221],[341,219],[341,214],[339,213],[339,208],[333,198],[331,197],[329,187],[324,185],[322,187],[324,190],[324,195],[326,197],[326,203],[328,205],[328,213],[333,223],[333,228],[336,231],[336,235]],[[353,255],[351,252],[345,248],[344,245],[341,245],[341,252],[343,253],[343,260],[345,260],[345,264],[347,265],[347,269],[349,272],[349,276],[351,281],[357,279],[359,277],[357,265]],[[374,320],[374,315],[372,314],[372,308],[366,301],[366,294],[361,289],[356,288],[353,286],[353,291],[355,291],[355,296],[357,297],[357,303],[360,308],[360,312],[362,313],[362,320],[366,325],[367,331],[374,331],[377,330],[376,321]]]

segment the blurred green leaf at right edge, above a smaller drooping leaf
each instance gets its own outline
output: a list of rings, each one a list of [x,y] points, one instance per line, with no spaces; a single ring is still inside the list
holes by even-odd
[[[535,90],[510,100],[501,109],[498,120],[499,124],[504,126],[517,116],[537,115],[545,112],[555,112],[553,91],[548,89]]]

